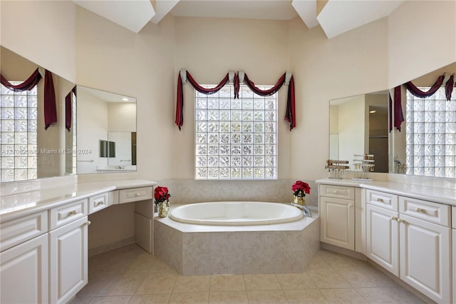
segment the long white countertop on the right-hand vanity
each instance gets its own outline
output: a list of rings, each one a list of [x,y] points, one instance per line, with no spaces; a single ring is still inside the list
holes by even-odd
[[[397,194],[399,196],[408,196],[435,203],[444,203],[450,206],[456,206],[456,190],[447,188],[438,188],[413,183],[397,183],[391,181],[353,181],[351,179],[332,179],[323,178],[316,181],[336,186],[352,186],[366,188],[376,191],[383,191]]]

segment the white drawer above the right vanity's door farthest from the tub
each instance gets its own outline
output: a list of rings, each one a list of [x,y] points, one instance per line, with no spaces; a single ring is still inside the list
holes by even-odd
[[[448,205],[400,196],[399,210],[400,213],[408,216],[450,227],[450,206]]]

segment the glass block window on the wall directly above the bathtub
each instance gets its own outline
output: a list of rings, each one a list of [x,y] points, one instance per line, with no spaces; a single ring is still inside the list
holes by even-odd
[[[239,99],[232,86],[195,91],[195,178],[277,178],[277,94],[259,96],[247,86]]]

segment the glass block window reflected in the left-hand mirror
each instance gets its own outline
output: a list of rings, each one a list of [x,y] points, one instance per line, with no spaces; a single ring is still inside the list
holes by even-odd
[[[0,182],[36,178],[36,86],[14,92],[1,85],[0,90]]]

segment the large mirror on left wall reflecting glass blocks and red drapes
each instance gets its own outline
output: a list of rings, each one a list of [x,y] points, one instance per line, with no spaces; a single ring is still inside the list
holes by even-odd
[[[38,64],[1,46],[1,75],[11,84],[24,82]],[[46,67],[40,67],[40,71]],[[29,91],[15,92],[1,86],[0,182],[65,176],[76,173],[73,162],[74,125],[65,128],[66,96],[75,84],[52,75],[58,121],[44,128],[44,80]],[[69,106],[74,106],[71,99]],[[75,123],[75,121],[73,121]],[[67,141],[68,140],[68,141]],[[70,141],[71,140],[71,141]]]

